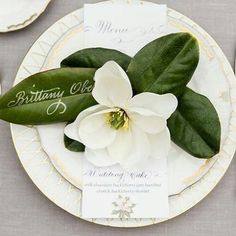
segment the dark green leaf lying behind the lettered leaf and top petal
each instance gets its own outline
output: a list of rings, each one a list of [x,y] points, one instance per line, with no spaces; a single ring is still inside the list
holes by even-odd
[[[131,58],[128,55],[113,49],[87,48],[65,58],[61,62],[61,67],[100,68],[110,60],[117,62],[124,70],[126,70]]]

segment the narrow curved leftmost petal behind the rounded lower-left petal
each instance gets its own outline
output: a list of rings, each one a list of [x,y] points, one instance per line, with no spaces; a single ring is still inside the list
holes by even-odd
[[[67,125],[64,129],[64,133],[67,137],[74,139],[76,141],[81,142],[81,139],[79,137],[79,124],[81,122],[82,119],[84,119],[85,117],[98,112],[98,111],[102,111],[105,110],[106,107],[105,106],[101,106],[101,105],[95,105],[95,106],[91,106],[85,110],[83,110],[82,112],[79,113],[79,115],[77,116],[76,120]]]

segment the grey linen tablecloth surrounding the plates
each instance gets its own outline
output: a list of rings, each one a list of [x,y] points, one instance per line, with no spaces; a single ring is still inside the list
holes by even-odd
[[[86,1],[92,3],[97,1]],[[235,0],[166,0],[202,26],[220,45],[231,65],[236,51]],[[53,0],[27,28],[0,34],[0,78],[3,92],[33,42],[55,21],[83,6],[84,1]],[[167,222],[133,229],[95,225],[76,218],[49,201],[27,176],[12,144],[9,124],[0,121],[0,235],[236,235],[236,159],[217,187],[199,204]]]

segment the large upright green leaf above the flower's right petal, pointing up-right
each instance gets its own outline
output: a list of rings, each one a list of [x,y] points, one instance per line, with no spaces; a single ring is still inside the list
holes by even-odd
[[[134,93],[180,95],[199,61],[197,40],[188,33],[169,34],[144,46],[127,73]]]

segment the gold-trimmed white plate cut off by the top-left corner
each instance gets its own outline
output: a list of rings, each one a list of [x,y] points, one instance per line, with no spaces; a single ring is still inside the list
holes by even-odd
[[[51,0],[0,0],[0,32],[26,27],[35,21]]]

